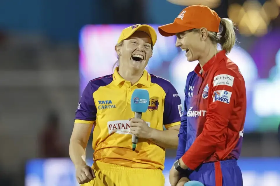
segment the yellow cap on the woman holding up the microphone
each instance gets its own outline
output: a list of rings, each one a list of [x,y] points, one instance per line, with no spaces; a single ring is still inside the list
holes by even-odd
[[[146,32],[152,39],[152,45],[155,45],[155,42],[157,41],[157,33],[155,32],[155,29],[153,27],[147,24],[136,24],[123,29],[118,39],[118,43],[130,37],[135,31]]]

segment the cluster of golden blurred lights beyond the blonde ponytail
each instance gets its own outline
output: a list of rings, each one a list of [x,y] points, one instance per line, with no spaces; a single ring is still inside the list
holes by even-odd
[[[261,36],[268,31],[270,22],[279,15],[279,0],[267,0],[262,5],[257,0],[247,0],[243,5],[229,5],[228,16],[238,26],[239,33]]]

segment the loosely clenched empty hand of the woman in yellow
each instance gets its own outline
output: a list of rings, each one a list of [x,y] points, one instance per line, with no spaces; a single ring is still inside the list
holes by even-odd
[[[76,167],[76,178],[79,184],[88,183],[95,178],[92,168],[86,164]]]

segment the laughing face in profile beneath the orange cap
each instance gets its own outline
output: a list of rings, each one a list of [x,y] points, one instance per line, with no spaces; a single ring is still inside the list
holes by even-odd
[[[176,47],[186,51],[188,61],[196,61],[205,53],[207,30],[202,28],[198,31],[185,31],[176,34]]]

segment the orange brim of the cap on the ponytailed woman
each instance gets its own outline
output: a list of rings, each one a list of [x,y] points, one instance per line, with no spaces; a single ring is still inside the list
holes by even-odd
[[[193,29],[193,28],[188,27],[188,26],[183,26],[183,25],[173,22],[170,24],[159,26],[158,32],[160,33],[160,35],[162,35],[164,37],[169,37],[169,36],[175,35],[176,33],[188,31],[191,29]]]

